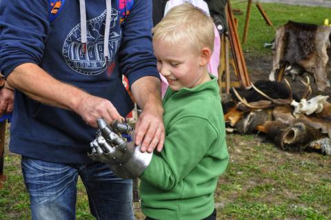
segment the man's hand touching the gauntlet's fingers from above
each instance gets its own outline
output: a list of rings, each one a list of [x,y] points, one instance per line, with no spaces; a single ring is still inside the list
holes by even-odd
[[[123,117],[110,101],[90,94],[86,94],[81,98],[75,111],[88,125],[94,128],[98,128],[97,119],[106,119],[109,122],[114,120],[123,121]]]

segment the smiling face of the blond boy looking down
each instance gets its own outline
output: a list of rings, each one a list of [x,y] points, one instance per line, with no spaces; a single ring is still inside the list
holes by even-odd
[[[153,41],[153,47],[157,70],[167,79],[172,90],[194,88],[210,80],[202,54],[194,50],[190,43],[170,45],[158,39]]]

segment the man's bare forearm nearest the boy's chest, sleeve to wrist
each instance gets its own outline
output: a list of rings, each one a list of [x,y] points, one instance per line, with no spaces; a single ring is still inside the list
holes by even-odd
[[[131,90],[139,108],[142,110],[154,108],[163,114],[160,85],[161,82],[157,77],[142,77],[134,81]]]

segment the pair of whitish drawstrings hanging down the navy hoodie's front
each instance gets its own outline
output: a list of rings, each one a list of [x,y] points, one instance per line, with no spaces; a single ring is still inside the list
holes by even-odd
[[[83,53],[86,53],[88,42],[88,29],[86,25],[86,6],[85,0],[79,0],[79,10],[81,14],[81,44],[83,46]],[[103,41],[103,54],[105,57],[105,65],[110,64],[110,54],[108,48],[109,32],[110,32],[110,19],[112,14],[112,0],[106,0],[106,26],[105,36]]]

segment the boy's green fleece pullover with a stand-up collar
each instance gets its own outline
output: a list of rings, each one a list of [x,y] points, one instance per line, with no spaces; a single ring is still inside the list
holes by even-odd
[[[217,79],[168,89],[163,108],[163,150],[139,177],[142,211],[153,219],[204,219],[229,158]]]

